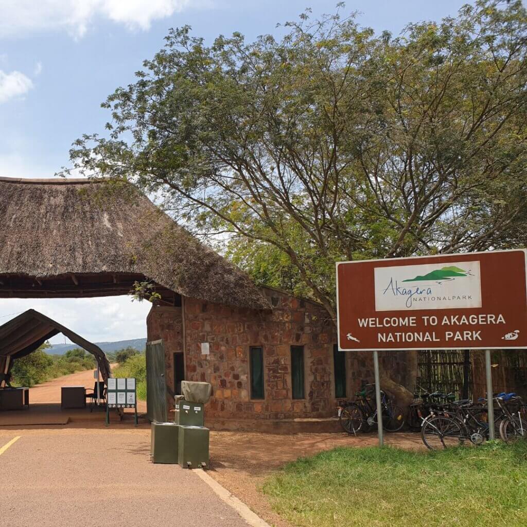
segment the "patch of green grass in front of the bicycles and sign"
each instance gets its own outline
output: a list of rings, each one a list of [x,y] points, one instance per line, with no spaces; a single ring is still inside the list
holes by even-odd
[[[441,452],[336,448],[262,487],[294,525],[489,527],[527,523],[527,442]]]

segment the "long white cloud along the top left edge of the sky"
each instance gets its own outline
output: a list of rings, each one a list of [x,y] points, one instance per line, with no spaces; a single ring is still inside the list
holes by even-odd
[[[190,0],[1,0],[0,36],[65,30],[82,37],[97,17],[147,30],[152,21],[189,5]]]

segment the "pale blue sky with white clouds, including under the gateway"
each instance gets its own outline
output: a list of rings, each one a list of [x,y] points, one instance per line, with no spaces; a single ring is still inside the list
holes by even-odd
[[[357,0],[344,13],[375,31],[398,34],[409,22],[455,15],[462,0]],[[333,13],[320,0],[0,0],[0,176],[51,178],[69,165],[83,133],[104,132],[100,108],[134,81],[169,28],[190,25],[207,43],[239,31],[249,40],[276,24]],[[0,299],[0,325],[33,308],[92,341],[146,336],[148,302],[128,297]],[[52,343],[63,342],[56,336]]]

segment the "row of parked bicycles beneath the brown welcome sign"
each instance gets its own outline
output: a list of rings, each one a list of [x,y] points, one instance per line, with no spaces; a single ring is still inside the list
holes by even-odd
[[[421,387],[419,387],[421,388]],[[514,393],[493,397],[494,437],[511,443],[527,438],[527,405]],[[489,439],[489,415],[485,398],[456,400],[454,394],[430,393],[421,388],[406,416],[381,391],[383,427],[387,432],[408,428],[421,432],[423,443],[432,450],[462,444],[479,445]],[[354,401],[340,401],[339,422],[348,434],[367,432],[377,426],[373,385],[364,385]]]

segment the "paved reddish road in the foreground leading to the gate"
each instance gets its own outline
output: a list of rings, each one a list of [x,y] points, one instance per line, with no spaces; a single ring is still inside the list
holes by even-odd
[[[0,432],[6,527],[246,527],[196,474],[152,464],[141,430]]]

